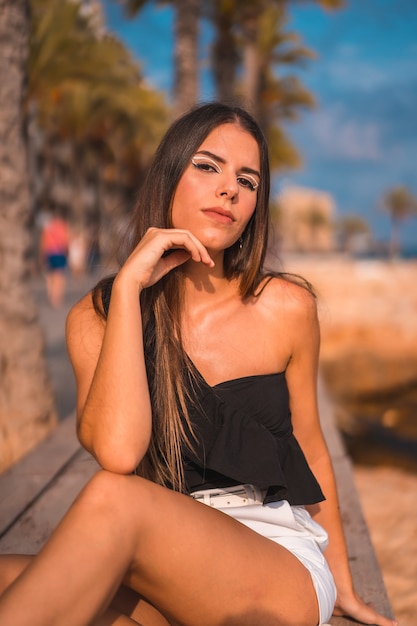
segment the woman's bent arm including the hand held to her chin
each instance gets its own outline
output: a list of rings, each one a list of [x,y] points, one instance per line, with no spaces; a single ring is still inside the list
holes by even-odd
[[[164,257],[172,248],[176,250]],[[77,431],[100,465],[131,473],[149,445],[152,411],[139,294],[190,257],[212,265],[187,231],[150,229],[112,289],[106,322],[86,296],[67,319],[67,345],[77,382]]]

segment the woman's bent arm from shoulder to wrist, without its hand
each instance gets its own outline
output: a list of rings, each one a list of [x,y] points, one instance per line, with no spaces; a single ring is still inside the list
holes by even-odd
[[[91,295],[70,312],[67,345],[77,382],[77,432],[105,469],[132,472],[149,445],[151,409],[137,289],[114,282],[107,321]]]

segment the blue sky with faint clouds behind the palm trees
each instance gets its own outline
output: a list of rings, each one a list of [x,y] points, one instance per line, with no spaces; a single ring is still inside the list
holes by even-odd
[[[114,0],[104,0],[107,26],[132,50],[150,84],[172,87],[172,10],[148,6],[127,20]],[[291,4],[291,3],[290,3]],[[297,70],[317,108],[287,127],[303,155],[302,169],[275,181],[329,192],[339,214],[361,215],[376,238],[386,240],[384,191],[407,185],[417,195],[417,2],[347,0],[323,11],[295,2],[288,29],[317,58]],[[201,99],[213,97],[208,71],[211,31],[201,33]],[[417,249],[417,217],[402,227],[402,241]]]

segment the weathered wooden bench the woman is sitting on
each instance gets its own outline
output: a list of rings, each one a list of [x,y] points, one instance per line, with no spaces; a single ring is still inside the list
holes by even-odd
[[[352,466],[334,426],[332,407],[320,386],[323,428],[338,481],[341,512],[355,586],[366,602],[391,616],[382,575],[356,491]],[[35,553],[45,543],[98,465],[78,444],[74,417],[0,476],[0,553]],[[333,626],[354,626],[333,617]]]

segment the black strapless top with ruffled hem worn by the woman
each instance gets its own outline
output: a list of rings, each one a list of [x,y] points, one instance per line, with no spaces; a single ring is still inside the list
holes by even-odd
[[[251,483],[267,490],[264,503],[324,500],[293,434],[285,373],[246,376],[210,387],[193,367],[189,407],[196,440],[184,453],[189,492]]]

